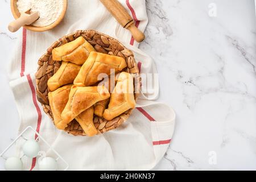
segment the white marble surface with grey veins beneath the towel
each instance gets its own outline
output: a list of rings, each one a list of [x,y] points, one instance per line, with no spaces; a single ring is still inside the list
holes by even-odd
[[[210,3],[217,7],[216,16],[208,14]],[[7,31],[13,19],[9,0],[0,6],[2,151],[18,130],[6,65],[20,32]],[[141,49],[158,67],[159,101],[177,114],[171,145],[155,169],[255,170],[254,1],[147,0],[147,11],[150,21]]]

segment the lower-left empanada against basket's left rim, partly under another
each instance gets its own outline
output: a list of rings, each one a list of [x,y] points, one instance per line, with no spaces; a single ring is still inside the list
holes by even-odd
[[[72,84],[65,85],[54,92],[48,93],[49,106],[52,110],[52,115],[55,125],[61,121],[61,113],[68,102],[69,92],[71,90]]]

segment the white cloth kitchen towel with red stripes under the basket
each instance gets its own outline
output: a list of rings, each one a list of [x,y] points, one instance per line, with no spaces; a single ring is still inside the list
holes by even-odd
[[[119,0],[135,19],[135,25],[145,30],[148,19],[145,0]],[[55,128],[36,100],[35,77],[37,61],[46,49],[61,36],[76,30],[94,29],[108,34],[135,54],[141,73],[157,73],[154,61],[138,49],[130,32],[123,29],[100,1],[68,1],[63,22],[47,32],[23,29],[9,65],[10,86],[20,117],[19,133],[31,125],[68,162],[70,170],[153,168],[163,157],[174,133],[175,113],[169,106],[149,101],[158,98],[158,77],[154,86],[145,89],[130,118],[118,129],[95,137],[74,137]],[[143,83],[142,83],[143,84]],[[148,91],[149,90],[149,91]],[[36,138],[28,134],[27,138]],[[40,142],[41,150],[53,156]],[[18,154],[22,143],[17,143]],[[53,156],[55,157],[55,156]],[[25,169],[38,169],[36,158],[23,158]]]

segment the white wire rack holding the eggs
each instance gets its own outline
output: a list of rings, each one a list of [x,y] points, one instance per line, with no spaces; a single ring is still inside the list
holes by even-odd
[[[3,155],[14,145],[14,143],[15,143],[20,137],[22,137],[23,139],[26,139],[26,138],[23,137],[23,134],[26,133],[26,131],[28,131],[28,130],[32,130],[32,131],[38,136],[35,140],[38,140],[38,139],[42,140],[42,141],[49,147],[49,149],[55,153],[55,155],[57,156],[57,159],[55,159],[56,161],[59,160],[59,159],[61,159],[61,160],[63,161],[63,163],[66,165],[66,167],[63,169],[63,171],[67,171],[67,169],[68,169],[68,167],[69,167],[68,163],[60,156],[60,154],[59,154],[54,148],[51,147],[51,145],[50,145],[48,142],[46,142],[46,140],[45,140],[37,131],[35,131],[35,130],[32,128],[32,126],[26,127],[26,129],[24,129],[24,130],[22,131],[22,133],[20,133],[20,134],[18,135],[18,137],[16,137],[15,140],[13,140],[13,142],[11,142],[11,144],[0,154],[0,158],[5,159],[5,158],[3,157]],[[42,151],[40,151],[40,152],[42,152]],[[20,159],[21,159],[23,156],[24,156],[24,155],[22,155],[22,156],[20,157]],[[6,159],[5,159],[5,160],[6,160]]]

